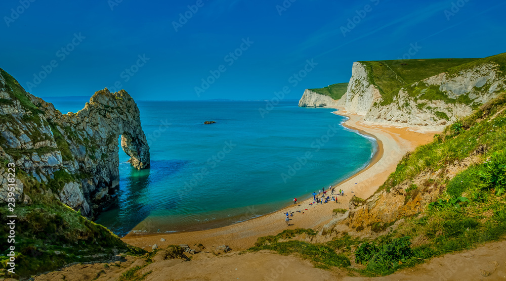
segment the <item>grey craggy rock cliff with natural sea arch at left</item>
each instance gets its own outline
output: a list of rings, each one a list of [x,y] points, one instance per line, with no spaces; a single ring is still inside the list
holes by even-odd
[[[124,91],[97,91],[77,113],[62,114],[0,74],[0,158],[44,183],[53,194],[92,217],[114,200],[119,187],[118,137],[137,169],[149,166],[149,147],[139,109]],[[0,199],[7,202],[7,168],[1,167]],[[18,179],[15,197],[29,204]]]

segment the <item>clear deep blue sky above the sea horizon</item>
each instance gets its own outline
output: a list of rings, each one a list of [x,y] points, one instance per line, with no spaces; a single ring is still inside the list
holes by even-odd
[[[506,52],[503,1],[31,1],[0,4],[0,67],[40,97],[299,99],[355,61]]]

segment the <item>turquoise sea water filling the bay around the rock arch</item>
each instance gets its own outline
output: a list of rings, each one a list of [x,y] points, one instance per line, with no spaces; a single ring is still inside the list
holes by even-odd
[[[76,112],[88,98],[45,98]],[[332,109],[282,101],[138,101],[151,165],[133,169],[120,149],[117,205],[97,223],[183,231],[232,224],[307,199],[367,165],[373,139],[346,129]],[[204,125],[204,121],[216,121]]]

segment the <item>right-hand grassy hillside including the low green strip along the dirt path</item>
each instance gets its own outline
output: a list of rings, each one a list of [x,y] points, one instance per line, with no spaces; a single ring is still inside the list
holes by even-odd
[[[492,117],[494,117],[492,119]],[[476,154],[475,152],[479,153]],[[389,191],[410,181],[422,172],[433,172],[474,155],[477,164],[458,173],[451,180],[441,177],[427,186],[412,184],[409,192],[429,192],[426,188],[445,190],[437,203],[419,216],[406,217],[389,235],[371,243],[349,237],[346,233],[331,242],[310,244],[300,241],[278,242],[276,237],[260,238],[251,251],[274,250],[281,254],[301,253],[319,267],[346,267],[343,260],[353,258],[366,268],[353,269],[364,275],[391,274],[434,256],[470,249],[481,243],[506,236],[506,94],[484,105],[475,114],[448,126],[432,143],[406,155],[380,190]],[[443,173],[444,175],[444,173]],[[409,193],[408,193],[409,194]],[[408,196],[406,194],[406,197]],[[458,197],[460,200],[454,200]],[[459,202],[465,201],[465,202]],[[466,202],[467,201],[467,202]],[[300,231],[300,230],[299,230]],[[307,235],[310,231],[305,230]],[[325,235],[326,233],[322,233]],[[409,240],[417,243],[409,247]],[[407,241],[407,242],[406,242]],[[352,247],[361,246],[353,252]],[[320,260],[315,257],[325,256]],[[402,263],[399,263],[402,261]]]

